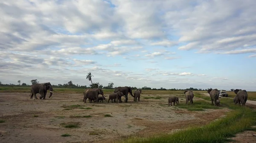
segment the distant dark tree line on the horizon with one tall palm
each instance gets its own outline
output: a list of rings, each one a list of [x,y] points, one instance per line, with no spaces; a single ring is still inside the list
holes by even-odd
[[[86,89],[86,88],[102,88],[102,89],[116,89],[116,87],[113,87],[113,82],[108,83],[107,86],[103,86],[102,84],[100,84],[99,82],[94,83],[92,81],[92,73],[88,73],[86,76],[86,79],[89,80],[91,82],[91,84],[89,85],[89,87],[87,87],[86,85],[78,85],[78,84],[74,84],[73,81],[68,81],[66,84],[58,84],[58,85],[54,85],[52,84],[53,88],[78,88],[78,89]],[[31,81],[31,85],[32,84],[36,84],[39,83],[39,81],[37,79],[32,79]],[[26,84],[26,83],[21,83],[20,80],[17,81],[18,84],[2,84],[2,82],[0,81],[0,86],[4,86],[4,87],[30,87],[31,85]],[[204,91],[204,90],[208,90],[208,89],[201,89],[201,88],[187,88],[187,89],[177,89],[177,88],[171,88],[171,89],[166,89],[166,88],[151,88],[151,87],[141,87],[141,88],[137,88],[137,87],[131,87],[132,90],[137,90],[137,89],[142,89],[142,90],[172,90],[172,91],[176,91],[176,90],[194,90],[194,91]],[[232,91],[233,89],[231,89]]]

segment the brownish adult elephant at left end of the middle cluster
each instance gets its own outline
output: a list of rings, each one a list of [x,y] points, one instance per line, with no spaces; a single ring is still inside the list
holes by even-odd
[[[99,101],[98,97],[99,94],[101,94],[102,96],[104,96],[103,90],[101,88],[88,88],[86,90],[84,90],[84,103],[86,103],[86,99],[89,99],[89,102],[92,103],[92,100],[94,99],[94,101]]]

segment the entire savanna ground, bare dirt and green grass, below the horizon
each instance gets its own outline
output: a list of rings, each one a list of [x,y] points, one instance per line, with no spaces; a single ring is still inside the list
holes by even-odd
[[[137,103],[128,95],[128,103],[84,104],[84,90],[54,90],[51,98],[47,93],[46,100],[34,100],[29,99],[29,88],[0,87],[1,142],[256,142],[256,106],[239,107],[232,99],[221,98],[221,107],[215,107],[200,94],[206,91],[196,91],[194,105],[187,106],[183,91],[143,90]],[[113,92],[103,91],[107,96]],[[256,92],[248,94],[248,99],[256,99]],[[169,96],[179,97],[179,105],[168,106]]]

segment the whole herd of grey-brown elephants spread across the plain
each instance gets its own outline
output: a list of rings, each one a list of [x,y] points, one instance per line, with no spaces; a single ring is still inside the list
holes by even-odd
[[[53,88],[52,88],[52,84],[50,82],[47,83],[41,83],[41,84],[33,84],[31,85],[31,89],[30,89],[30,99],[33,98],[33,95],[35,96],[35,99],[38,99],[36,94],[39,93],[41,96],[39,97],[40,99],[45,99],[46,94],[47,94],[47,90],[50,91],[50,95],[49,98],[52,96],[53,93]],[[111,102],[115,102],[115,103],[122,103],[121,97],[124,96],[125,97],[125,102],[128,101],[128,93],[130,93],[130,95],[134,98],[134,101],[140,101],[140,94],[141,94],[142,90],[135,90],[134,94],[132,93],[131,87],[125,86],[125,87],[117,87],[113,93],[109,94],[108,97],[108,103],[109,100],[111,100]],[[211,101],[212,101],[212,105],[215,106],[219,106],[220,105],[220,100],[219,100],[219,93],[217,89],[209,89],[207,90],[207,92],[210,95]],[[246,90],[239,90],[236,89],[234,90],[234,92],[236,93],[236,96],[233,98],[233,102],[235,104],[242,104],[243,106],[245,105],[246,101],[247,101],[247,91]],[[102,97],[99,97],[99,94],[102,95]],[[190,104],[193,104],[193,98],[194,98],[194,93],[192,90],[186,90],[184,91],[184,95],[186,98],[186,104],[188,105],[189,102]],[[100,102],[103,100],[106,100],[107,96],[104,95],[103,90],[101,88],[87,88],[86,90],[84,90],[84,98],[83,98],[83,102],[86,103],[86,100],[88,98],[89,102]],[[114,101],[113,101],[114,100]],[[179,98],[177,98],[176,96],[171,96],[168,98],[168,103],[170,106],[172,106],[172,102],[176,104],[179,103]]]

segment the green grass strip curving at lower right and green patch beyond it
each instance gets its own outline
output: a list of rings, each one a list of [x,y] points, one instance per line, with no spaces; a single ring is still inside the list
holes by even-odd
[[[195,93],[196,97],[207,99],[205,95]],[[249,107],[234,105],[230,98],[221,98],[223,106],[233,109],[226,117],[213,121],[206,126],[190,127],[172,134],[162,133],[150,137],[131,136],[128,139],[118,141],[119,143],[226,143],[229,137],[245,130],[256,130],[251,126],[256,125],[256,111]],[[199,101],[194,107],[188,109],[209,109],[211,103]],[[183,105],[181,105],[182,107]],[[211,105],[212,106],[212,105]],[[213,107],[213,106],[212,106]]]

